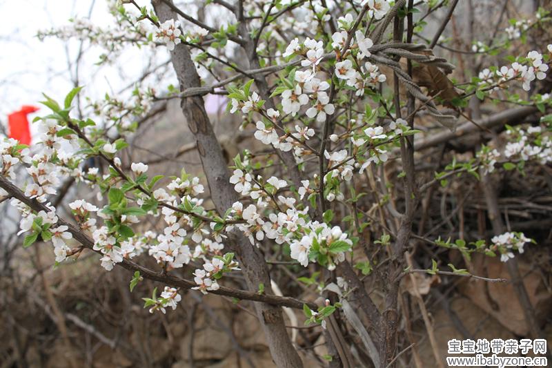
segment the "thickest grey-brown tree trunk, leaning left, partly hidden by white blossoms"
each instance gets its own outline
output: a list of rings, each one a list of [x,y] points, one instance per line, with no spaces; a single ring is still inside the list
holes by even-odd
[[[157,17],[161,22],[177,19],[177,14],[161,0],[152,0]],[[199,75],[190,57],[190,52],[180,43],[170,52],[172,66],[175,68],[180,89],[199,87]],[[213,132],[201,97],[188,97],[181,100],[181,107],[190,130],[195,135],[197,151],[201,157],[211,197],[219,214],[223,215],[239,199],[229,182],[228,166],[222,155],[221,146]],[[265,292],[271,293],[270,277],[262,253],[241,233],[228,233],[230,247],[237,253],[242,270],[250,290],[257,291],[259,284],[265,285]],[[255,302],[255,309],[261,323],[270,354],[278,367],[302,367],[301,358],[291,344],[284,325],[282,309],[270,304]]]

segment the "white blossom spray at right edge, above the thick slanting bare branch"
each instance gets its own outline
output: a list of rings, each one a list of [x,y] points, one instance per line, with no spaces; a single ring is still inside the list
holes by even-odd
[[[552,47],[549,45],[549,47]],[[538,51],[531,51],[522,63],[513,62],[511,66],[502,66],[500,69],[492,72],[488,68],[482,70],[479,74],[480,86],[486,86],[492,83],[497,84],[493,90],[500,88],[501,84],[513,79],[521,81],[524,90],[531,89],[531,82],[535,79],[546,78],[546,71],[549,70],[548,64],[542,61],[542,54]]]

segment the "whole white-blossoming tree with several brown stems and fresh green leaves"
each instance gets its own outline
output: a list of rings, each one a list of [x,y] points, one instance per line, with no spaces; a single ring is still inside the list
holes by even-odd
[[[39,143],[0,142],[0,196],[21,213],[23,246],[51,242],[59,264],[94,251],[106,271],[132,272],[131,289],[144,278],[159,282],[159,296],[154,290],[144,298],[152,313],[176,309],[194,290],[253,302],[278,367],[302,367],[284,319],[297,320],[293,309],[321,327],[332,366],[395,365],[410,345],[397,335],[402,280],[426,273],[504,281],[471,273],[475,253],[506,262],[538,335],[515,263],[532,240],[504,224],[492,177],[552,161],[552,45],[526,39],[548,26],[549,13],[540,8],[507,28],[499,21],[488,43],[455,50],[443,35],[457,0],[206,3],[207,19],[172,0],[124,0],[112,3],[117,28],[77,19],[41,32],[98,44],[108,50],[104,63],[123,48],[168,52],[178,87],[139,86],[130,100],[82,102],[82,113],[75,97],[86,88],[62,104],[45,95],[51,111],[34,123]],[[446,16],[429,34],[424,19],[437,10]],[[449,60],[440,56],[449,49]],[[479,65],[452,78],[462,52]],[[210,93],[226,95],[228,113],[250,136],[230,164],[204,106]],[[136,122],[167,99],[181,102],[201,175],[183,170],[165,178],[147,162],[121,162]],[[493,103],[500,109],[484,109]],[[529,117],[533,124],[524,124]],[[485,136],[468,159],[447,148],[428,175],[428,150],[504,126],[504,144]],[[106,170],[87,164],[91,157]],[[63,204],[57,196],[67,176],[96,191],[98,201]],[[471,238],[456,229],[456,240],[424,236],[431,196],[460,179],[483,188],[494,235]],[[161,219],[162,231],[139,226],[150,217]],[[460,251],[466,267],[442,265],[432,249]],[[428,264],[420,264],[424,252]],[[284,288],[275,263],[295,273],[293,282],[315,285],[317,298]],[[245,284],[226,284],[233,273]],[[373,288],[382,298],[373,298]]]

